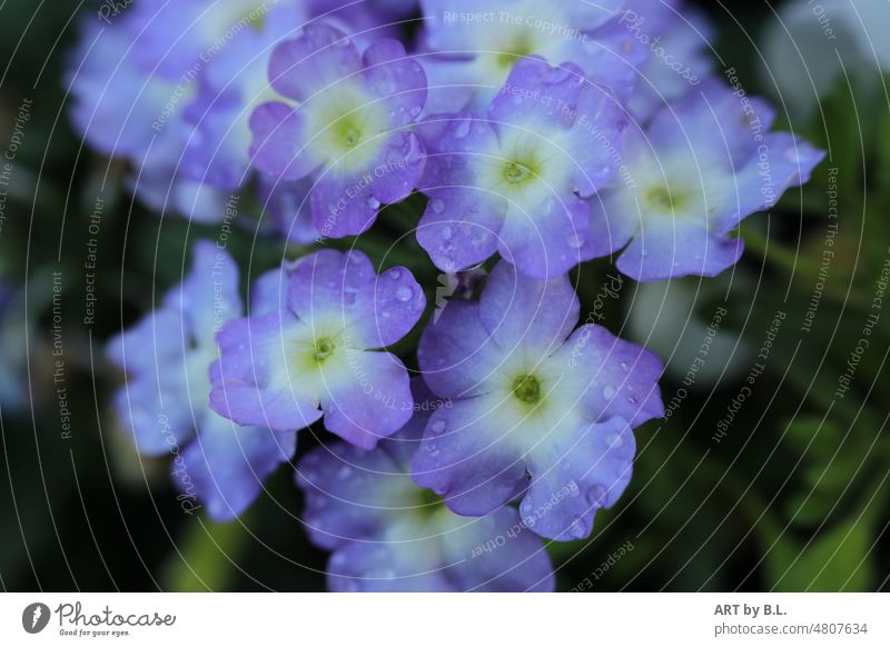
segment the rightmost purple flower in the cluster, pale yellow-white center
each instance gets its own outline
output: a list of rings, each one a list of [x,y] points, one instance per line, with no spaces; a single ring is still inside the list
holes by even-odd
[[[774,111],[710,79],[653,118],[627,129],[625,172],[592,200],[590,258],[625,248],[619,269],[640,281],[734,265],[743,241],[731,232],[809,180],[824,157],[788,132],[770,132]],[[626,246],[626,247],[625,247]]]

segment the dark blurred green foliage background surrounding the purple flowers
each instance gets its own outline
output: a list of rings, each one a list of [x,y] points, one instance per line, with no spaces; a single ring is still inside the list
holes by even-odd
[[[72,132],[63,63],[73,17],[91,10],[80,4],[0,4],[4,146],[30,101],[0,228],[0,282],[9,299],[0,385],[24,389],[23,406],[0,401],[0,586],[323,590],[326,555],[300,527],[299,494],[287,470],[240,521],[209,524],[181,512],[165,461],[140,460],[108,408],[120,376],[102,359],[105,340],[179,280],[190,241],[212,238],[215,229],[159,218],[134,202],[125,169]],[[758,49],[775,20],[770,6],[699,4],[718,26],[716,69],[732,66],[749,93],[774,98]],[[551,545],[560,590],[888,589],[890,301],[881,311],[876,299],[890,260],[890,101],[877,67],[856,72],[871,91],[841,76],[809,117],[780,116],[780,127],[830,155],[809,185],[745,221],[748,249],[733,271],[654,287],[625,280],[611,290],[616,296],[603,293],[616,276],[606,260],[576,272],[583,311],[601,313],[623,337],[649,337],[669,361],[662,390],[671,416],[637,430],[634,479],[600,514],[593,536]],[[105,209],[96,319],[83,326],[80,278],[98,193]],[[831,200],[837,218],[829,217]],[[416,222],[411,207],[380,218],[378,236],[357,247],[382,259],[380,241]],[[245,276],[299,252],[251,235],[233,239],[230,250]],[[436,272],[412,237],[382,259],[397,263],[435,289]],[[59,270],[78,279],[61,286],[70,434],[53,384],[52,272]],[[706,328],[724,311],[690,384]],[[862,338],[869,346],[858,352]],[[764,361],[758,355],[768,340]],[[751,372],[755,364],[762,375]],[[299,455],[310,445],[303,442]]]

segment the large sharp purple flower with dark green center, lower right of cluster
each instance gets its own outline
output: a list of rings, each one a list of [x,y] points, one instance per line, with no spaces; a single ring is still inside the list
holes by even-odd
[[[566,276],[534,281],[498,263],[478,302],[449,302],[417,357],[436,396],[412,474],[459,515],[522,498],[544,537],[590,535],[631,478],[632,429],[663,415],[661,361],[578,320]]]

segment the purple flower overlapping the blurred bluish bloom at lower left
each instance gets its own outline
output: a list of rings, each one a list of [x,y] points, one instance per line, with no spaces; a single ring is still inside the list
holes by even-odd
[[[379,277],[360,251],[323,250],[287,269],[268,313],[236,319],[217,336],[210,406],[240,425],[325,427],[366,449],[411,417],[408,374],[389,352],[426,299],[414,276]],[[320,409],[319,409],[320,406]]]

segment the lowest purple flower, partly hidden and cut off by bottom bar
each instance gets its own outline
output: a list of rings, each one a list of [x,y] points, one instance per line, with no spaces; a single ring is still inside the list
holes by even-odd
[[[415,414],[374,451],[345,442],[317,448],[299,464],[312,540],[333,551],[335,591],[553,590],[541,540],[515,508],[459,517],[408,475],[411,457],[435,399],[418,378]]]

